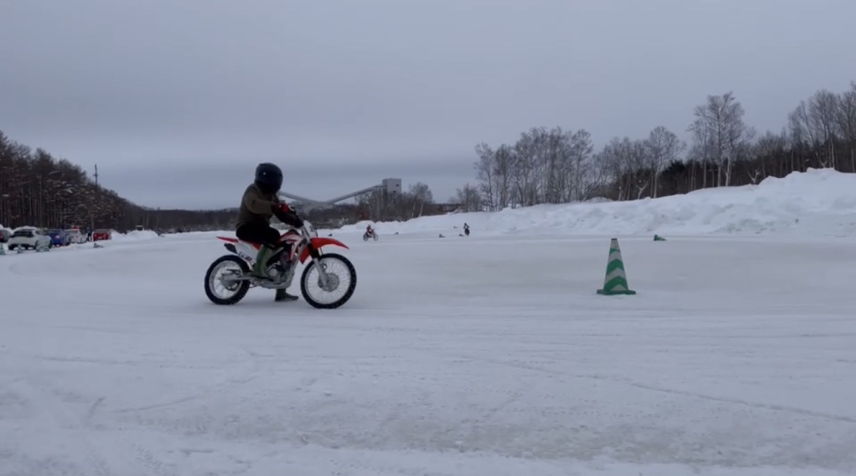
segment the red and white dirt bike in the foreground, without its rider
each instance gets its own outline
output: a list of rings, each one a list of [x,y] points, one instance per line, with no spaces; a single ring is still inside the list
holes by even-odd
[[[304,222],[300,229],[288,229],[279,239],[276,251],[265,264],[265,276],[259,279],[250,275],[260,245],[237,238],[217,236],[226,241],[223,246],[232,254],[216,259],[205,272],[205,295],[215,304],[231,305],[247,295],[251,287],[286,289],[294,279],[298,260],[309,264],[300,277],[300,293],[311,306],[334,309],[342,306],[354,295],[357,271],[348,258],[337,253],[322,253],[321,248],[336,246],[348,249],[342,241],[319,238],[312,224]],[[286,248],[289,252],[284,253]],[[338,270],[334,271],[334,268]],[[217,286],[223,291],[216,291]],[[317,287],[318,290],[311,290]],[[330,296],[330,299],[325,297]],[[336,297],[338,296],[338,297]]]

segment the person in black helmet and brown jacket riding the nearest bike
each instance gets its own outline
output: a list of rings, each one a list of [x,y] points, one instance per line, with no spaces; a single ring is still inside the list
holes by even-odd
[[[282,170],[276,164],[259,164],[256,167],[256,179],[244,191],[241,207],[238,211],[238,223],[235,235],[243,241],[259,243],[259,254],[253,265],[252,276],[265,277],[265,264],[274,253],[279,241],[279,230],[270,226],[270,217],[276,216],[282,223],[295,228],[303,226],[303,220],[278,197],[282,188]],[[295,300],[285,289],[276,290],[276,300]]]

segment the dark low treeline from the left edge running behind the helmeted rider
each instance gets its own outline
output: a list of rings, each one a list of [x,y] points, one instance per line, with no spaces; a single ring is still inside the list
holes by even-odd
[[[15,228],[116,229],[143,227],[163,232],[232,229],[237,209],[211,211],[153,209],[136,205],[102,187],[79,165],[43,149],[10,140],[0,131],[0,225]],[[431,188],[412,184],[399,196],[366,193],[355,204],[318,208],[296,204],[313,223],[343,226],[360,220],[407,220],[449,211],[435,205]]]

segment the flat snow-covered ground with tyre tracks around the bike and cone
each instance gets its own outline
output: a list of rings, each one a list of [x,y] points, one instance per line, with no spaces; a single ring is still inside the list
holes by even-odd
[[[856,247],[823,236],[843,215],[624,236],[635,296],[595,294],[597,229],[336,230],[359,283],[334,311],[210,304],[213,233],[12,253],[0,475],[854,474]]]

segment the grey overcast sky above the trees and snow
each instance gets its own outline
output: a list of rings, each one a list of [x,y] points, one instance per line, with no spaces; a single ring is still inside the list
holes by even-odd
[[[733,90],[778,131],[856,80],[854,0],[2,0],[0,130],[140,205],[235,206],[260,161],[330,199],[446,200],[533,126],[679,134]]]

